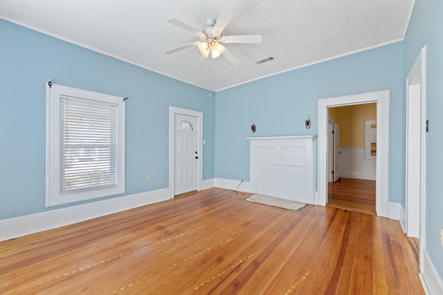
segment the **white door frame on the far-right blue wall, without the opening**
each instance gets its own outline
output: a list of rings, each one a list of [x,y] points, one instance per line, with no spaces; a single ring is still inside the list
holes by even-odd
[[[408,166],[406,165],[405,171],[405,198],[406,198],[406,234],[410,236],[408,230],[409,222],[419,222],[419,267],[423,269],[424,261],[424,249],[426,248],[426,46],[420,50],[417,59],[413,66],[410,68],[408,76],[406,77],[406,161],[408,160],[408,104],[411,99],[409,93],[409,87],[413,85],[413,79],[420,75],[420,175],[419,175],[419,211],[417,212],[417,205],[413,202],[408,202]],[[412,213],[413,216],[410,216]],[[417,213],[419,216],[417,216]]]

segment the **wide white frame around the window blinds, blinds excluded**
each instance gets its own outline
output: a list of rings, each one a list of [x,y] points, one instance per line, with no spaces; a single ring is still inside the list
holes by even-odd
[[[60,193],[60,96],[79,97],[118,105],[117,184]],[[125,193],[125,98],[80,88],[46,84],[46,207]]]

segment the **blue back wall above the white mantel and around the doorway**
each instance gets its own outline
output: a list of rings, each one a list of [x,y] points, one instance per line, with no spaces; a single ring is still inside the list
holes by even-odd
[[[246,137],[318,134],[318,99],[390,89],[390,200],[404,202],[403,85],[398,42],[217,92],[215,177],[249,180]]]

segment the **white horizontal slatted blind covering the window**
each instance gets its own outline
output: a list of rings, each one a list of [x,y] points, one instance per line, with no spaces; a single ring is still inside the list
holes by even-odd
[[[60,97],[60,193],[117,185],[118,106]]]

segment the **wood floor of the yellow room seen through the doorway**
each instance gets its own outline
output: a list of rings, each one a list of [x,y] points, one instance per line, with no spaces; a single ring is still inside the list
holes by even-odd
[[[340,178],[328,182],[327,205],[375,215],[375,181]]]

